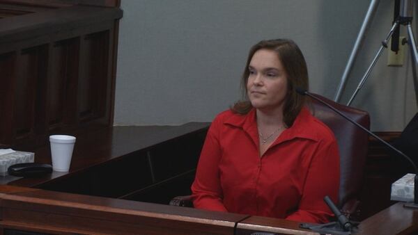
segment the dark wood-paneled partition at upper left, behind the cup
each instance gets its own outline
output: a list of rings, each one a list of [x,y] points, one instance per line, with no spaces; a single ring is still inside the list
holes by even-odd
[[[0,146],[113,124],[122,11],[87,2],[0,1]]]

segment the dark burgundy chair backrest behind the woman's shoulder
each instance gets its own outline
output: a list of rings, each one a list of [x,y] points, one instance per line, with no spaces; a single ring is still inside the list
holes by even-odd
[[[370,129],[370,117],[366,111],[338,104],[320,95],[314,95],[366,129]],[[341,179],[338,206],[341,209],[344,204],[350,200],[357,200],[359,197],[364,179],[369,134],[315,99],[311,99],[310,108],[311,113],[334,132],[339,145]]]

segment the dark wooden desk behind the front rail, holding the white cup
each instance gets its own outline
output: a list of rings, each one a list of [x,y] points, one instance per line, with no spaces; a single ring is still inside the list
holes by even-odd
[[[189,186],[208,123],[178,127],[113,127],[75,133],[70,172],[40,178],[4,177],[3,184],[168,204]],[[22,149],[20,149],[22,150]],[[30,149],[23,149],[30,150]],[[35,161],[51,163],[49,144]]]

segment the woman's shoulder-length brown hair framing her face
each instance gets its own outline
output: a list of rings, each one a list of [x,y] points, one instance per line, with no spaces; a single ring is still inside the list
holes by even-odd
[[[291,127],[305,103],[305,97],[297,94],[295,89],[301,88],[303,90],[308,90],[309,88],[307,63],[304,60],[302,51],[300,51],[297,44],[292,40],[263,40],[251,47],[241,79],[242,95],[244,98],[241,101],[236,102],[231,107],[231,111],[234,113],[247,114],[252,108],[251,102],[249,102],[247,96],[248,67],[251,58],[256,51],[260,49],[274,51],[286,70],[288,77],[288,95],[284,104],[283,115],[284,123],[287,127]]]

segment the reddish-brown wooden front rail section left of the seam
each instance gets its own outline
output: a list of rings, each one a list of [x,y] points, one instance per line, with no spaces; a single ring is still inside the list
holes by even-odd
[[[0,186],[7,234],[233,234],[246,215]]]

